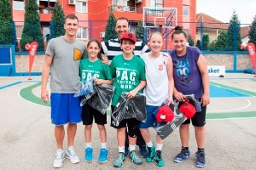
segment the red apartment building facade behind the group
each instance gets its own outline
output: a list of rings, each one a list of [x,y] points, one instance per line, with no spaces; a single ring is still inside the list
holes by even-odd
[[[13,19],[19,41],[24,25],[26,0],[10,1],[13,6]],[[56,0],[35,1],[38,3],[42,33],[46,41],[49,35],[49,21]],[[84,41],[90,38],[104,40],[105,27],[111,12],[116,18],[125,17],[130,20],[132,32],[136,31],[139,20],[143,20],[144,31],[148,34],[155,30],[161,31],[166,35],[166,47],[171,47],[172,41],[169,34],[176,25],[183,26],[185,31],[188,31],[195,39],[196,0],[59,0],[59,3],[65,15],[76,14],[78,16],[77,37]],[[150,10],[146,11],[145,7]],[[172,11],[172,8],[175,8],[175,11]]]

